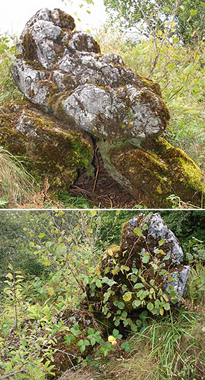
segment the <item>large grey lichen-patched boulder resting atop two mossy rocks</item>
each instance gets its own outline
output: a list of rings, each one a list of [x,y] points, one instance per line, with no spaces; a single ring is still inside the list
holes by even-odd
[[[120,56],[100,54],[73,17],[43,8],[27,22],[14,77],[33,104],[100,138],[147,138],[169,120],[160,88],[132,72]]]

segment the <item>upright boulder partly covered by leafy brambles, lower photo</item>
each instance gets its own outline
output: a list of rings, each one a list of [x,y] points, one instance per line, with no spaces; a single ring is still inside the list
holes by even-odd
[[[190,271],[182,259],[180,243],[160,214],[140,213],[124,223],[120,245],[101,255],[101,290],[88,291],[93,307],[102,307],[98,318],[104,313],[112,326],[121,315],[118,326],[136,309],[147,306],[153,314],[162,314],[163,308],[169,310],[168,301],[179,305]]]

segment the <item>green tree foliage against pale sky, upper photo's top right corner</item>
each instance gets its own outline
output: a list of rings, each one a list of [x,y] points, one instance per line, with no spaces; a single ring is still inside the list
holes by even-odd
[[[104,3],[112,20],[123,29],[134,27],[139,35],[154,38],[162,33],[169,37],[177,35],[184,44],[192,45],[204,37],[204,1],[104,0]],[[174,31],[170,28],[172,24]]]

